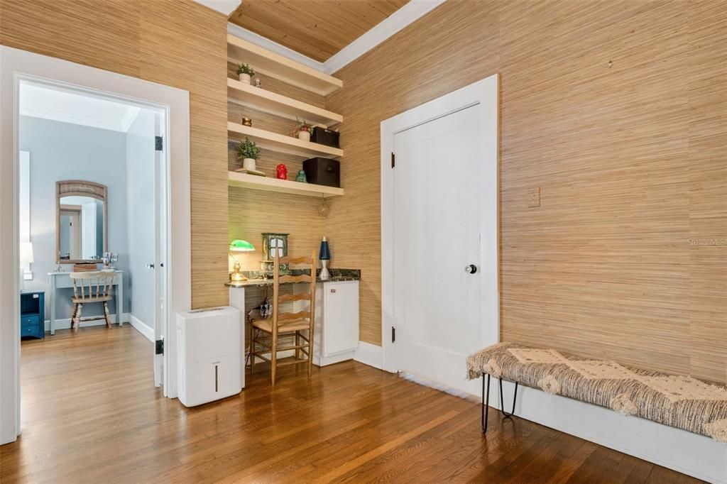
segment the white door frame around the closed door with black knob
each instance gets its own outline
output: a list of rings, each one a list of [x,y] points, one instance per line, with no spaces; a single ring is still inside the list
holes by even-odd
[[[382,367],[385,371],[399,370],[395,344],[391,342],[394,321],[394,170],[391,153],[394,135],[441,118],[465,108],[475,108],[486,126],[482,140],[486,146],[482,153],[481,180],[483,227],[481,244],[482,318],[497,321],[490,329],[490,341],[499,341],[499,81],[497,74],[477,81],[457,91],[425,102],[404,113],[381,122],[381,335]],[[467,174],[462,174],[463,177]],[[464,267],[462,268],[464,270]],[[433,275],[436,277],[436,275]],[[465,374],[462,361],[462,374]]]

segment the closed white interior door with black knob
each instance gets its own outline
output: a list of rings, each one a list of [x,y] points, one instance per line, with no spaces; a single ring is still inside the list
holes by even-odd
[[[393,134],[393,348],[396,370],[477,393],[465,360],[499,336],[497,109],[451,108]]]

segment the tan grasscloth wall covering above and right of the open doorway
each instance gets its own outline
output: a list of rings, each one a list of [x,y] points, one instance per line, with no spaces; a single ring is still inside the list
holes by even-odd
[[[0,0],[0,42],[190,92],[192,304],[228,303],[226,19],[190,0]]]

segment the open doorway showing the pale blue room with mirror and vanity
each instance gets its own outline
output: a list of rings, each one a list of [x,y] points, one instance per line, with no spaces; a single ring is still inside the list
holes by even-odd
[[[33,79],[18,97],[20,389],[32,429],[57,411],[39,401],[83,408],[78,398],[127,368],[149,387],[163,381],[152,358],[129,358],[153,354],[166,310],[166,113]]]

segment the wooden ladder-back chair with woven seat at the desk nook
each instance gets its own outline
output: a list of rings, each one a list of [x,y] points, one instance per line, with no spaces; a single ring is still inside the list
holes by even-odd
[[[309,274],[280,275],[280,266],[306,266]],[[308,363],[308,377],[313,371],[313,325],[316,320],[316,269],[318,260],[316,251],[310,257],[280,257],[278,251],[273,263],[273,315],[271,318],[257,320],[252,323],[252,341],[250,342],[250,371],[255,370],[255,357],[270,362],[270,378],[275,386],[276,367]],[[300,267],[298,267],[300,268]],[[305,270],[304,269],[304,270]],[[299,294],[280,294],[283,283],[307,283],[310,289]],[[298,312],[279,312],[281,303],[308,301],[308,310]],[[278,347],[278,341],[291,337],[292,346]],[[294,350],[293,360],[278,363],[278,352]],[[268,358],[268,356],[270,357]],[[302,358],[305,355],[305,358]]]

